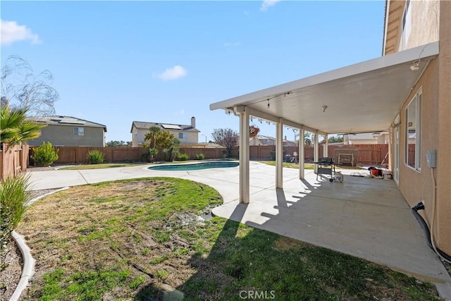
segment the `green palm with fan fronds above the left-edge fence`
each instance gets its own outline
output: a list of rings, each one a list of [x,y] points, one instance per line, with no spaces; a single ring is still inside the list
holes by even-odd
[[[27,108],[1,106],[0,108],[0,142],[16,145],[41,135],[45,125],[27,120]]]

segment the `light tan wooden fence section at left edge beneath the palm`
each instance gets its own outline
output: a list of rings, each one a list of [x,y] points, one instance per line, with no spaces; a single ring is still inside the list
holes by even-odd
[[[0,149],[0,179],[16,176],[26,171],[28,166],[29,147],[23,145],[1,144]]]

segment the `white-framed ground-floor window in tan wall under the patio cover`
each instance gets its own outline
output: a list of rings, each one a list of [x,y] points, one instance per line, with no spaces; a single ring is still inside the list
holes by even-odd
[[[406,164],[421,171],[421,90],[406,109]]]

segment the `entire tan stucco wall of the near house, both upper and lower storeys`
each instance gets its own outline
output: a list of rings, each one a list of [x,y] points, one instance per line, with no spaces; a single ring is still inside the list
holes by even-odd
[[[424,201],[426,209],[424,212],[420,211],[421,215],[430,227],[431,221],[435,220],[435,241],[441,250],[451,254],[451,1],[410,1],[409,5],[410,32],[404,49],[439,40],[440,53],[412,89],[400,111],[399,188],[411,207]],[[399,51],[403,49],[400,39],[401,33],[398,35]],[[420,88],[423,92],[421,171],[415,171],[405,163],[405,109]],[[390,133],[390,147],[395,149],[393,128]],[[428,150],[437,151],[437,168],[427,167]],[[392,152],[390,162],[394,161],[394,156]],[[435,218],[433,177],[436,180]]]

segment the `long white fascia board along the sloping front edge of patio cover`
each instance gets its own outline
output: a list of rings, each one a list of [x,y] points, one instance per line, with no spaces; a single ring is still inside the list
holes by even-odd
[[[331,80],[338,80],[340,78],[347,78],[352,75],[358,75],[360,73],[366,73],[371,70],[378,70],[390,66],[395,66],[402,63],[413,63],[419,59],[426,59],[432,56],[438,55],[438,41],[431,42],[426,45],[414,47],[404,51],[396,52],[395,54],[389,54],[387,56],[381,56],[369,61],[363,61],[361,63],[355,63],[350,66],[345,66],[335,70],[330,70],[325,73],[319,73],[312,75],[308,78],[302,78],[292,82],[287,82],[282,85],[269,87],[264,90],[244,94],[239,97],[233,97],[223,100],[221,102],[214,102],[210,104],[210,110],[226,109],[237,105],[252,104],[256,99],[272,97],[278,94],[288,93],[292,90],[301,89],[303,87],[309,87],[311,85],[318,85],[322,82],[328,82]]]

